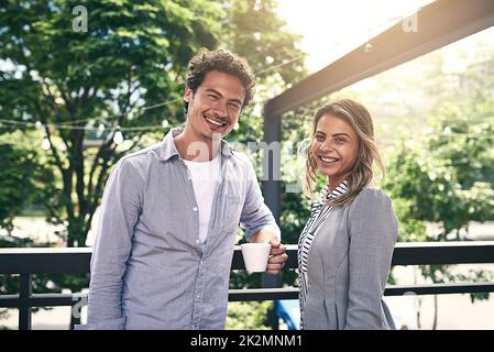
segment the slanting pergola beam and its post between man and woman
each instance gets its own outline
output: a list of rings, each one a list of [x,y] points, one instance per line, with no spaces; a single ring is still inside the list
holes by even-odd
[[[396,23],[268,100],[264,105],[264,141],[267,144],[281,142],[283,113],[493,26],[494,1],[437,0],[418,10],[415,16],[416,31],[403,22]],[[281,152],[265,150],[265,158],[270,157],[270,152],[273,154],[263,193],[266,205],[279,220],[281,180],[273,179],[273,175],[281,175]]]

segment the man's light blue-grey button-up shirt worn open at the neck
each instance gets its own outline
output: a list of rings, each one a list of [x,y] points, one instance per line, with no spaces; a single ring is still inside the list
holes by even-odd
[[[223,329],[239,222],[248,240],[279,229],[249,158],[222,142],[207,241],[171,131],[111,173],[91,258],[88,323],[79,329]]]

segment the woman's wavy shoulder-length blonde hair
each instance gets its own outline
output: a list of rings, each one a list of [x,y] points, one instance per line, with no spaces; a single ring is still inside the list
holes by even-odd
[[[377,145],[374,142],[374,125],[372,117],[361,103],[351,99],[341,99],[331,102],[319,109],[314,118],[312,132],[310,135],[310,146],[314,143],[317,123],[325,116],[340,118],[350,123],[359,136],[359,151],[355,165],[351,174],[347,177],[348,191],[336,199],[328,200],[330,206],[348,206],[359,195],[359,193],[372,183],[374,177],[372,165],[375,162],[385,176],[385,167],[378,153]],[[307,148],[306,176],[304,193],[310,197],[315,197],[315,186],[317,183],[317,163],[310,154],[310,146]]]

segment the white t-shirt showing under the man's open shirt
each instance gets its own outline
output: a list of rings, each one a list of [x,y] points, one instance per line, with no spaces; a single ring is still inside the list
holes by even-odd
[[[217,155],[211,161],[202,163],[186,160],[184,162],[189,169],[194,194],[196,195],[199,211],[199,240],[200,243],[204,243],[208,237],[216,187],[221,177],[220,156]]]

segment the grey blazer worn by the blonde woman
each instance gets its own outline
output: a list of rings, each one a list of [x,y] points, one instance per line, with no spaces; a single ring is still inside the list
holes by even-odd
[[[308,252],[305,329],[395,329],[382,297],[397,230],[392,202],[378,189],[332,209]]]

